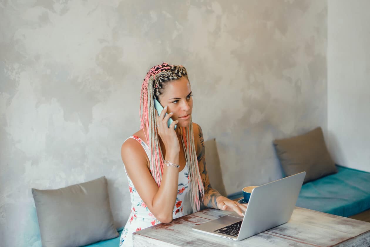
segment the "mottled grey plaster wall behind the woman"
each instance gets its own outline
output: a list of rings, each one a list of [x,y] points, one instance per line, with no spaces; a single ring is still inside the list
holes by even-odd
[[[125,223],[120,147],[162,61],[189,72],[193,120],[218,142],[228,194],[280,178],[272,140],[326,130],[326,22],[322,0],[1,1],[3,246],[41,246],[32,187],[105,175]]]

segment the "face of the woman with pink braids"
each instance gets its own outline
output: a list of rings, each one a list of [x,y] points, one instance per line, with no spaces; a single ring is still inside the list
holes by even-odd
[[[173,112],[172,120],[179,120],[177,126],[187,127],[193,110],[193,98],[189,80],[186,76],[165,84],[159,95],[159,103],[168,106],[167,113]],[[161,114],[161,113],[159,113]]]

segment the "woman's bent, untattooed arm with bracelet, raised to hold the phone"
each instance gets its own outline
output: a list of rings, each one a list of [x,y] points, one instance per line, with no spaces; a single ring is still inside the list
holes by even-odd
[[[172,115],[168,114],[166,117],[161,116],[160,118],[163,119],[164,124],[166,124],[168,118]],[[162,121],[157,122],[161,123]],[[162,129],[161,138],[165,140],[165,160],[179,164],[179,145],[174,130],[174,125],[176,123],[176,121],[172,122],[170,128],[165,126],[167,130]],[[173,133],[170,132],[171,127]],[[158,130],[158,132],[160,131]],[[174,136],[172,136],[172,134],[174,134]],[[175,139],[173,137],[175,137]],[[173,143],[174,141],[177,141],[178,147],[176,143]],[[162,223],[170,223],[176,203],[179,168],[165,165],[163,167],[161,186],[158,187],[148,169],[145,151],[138,141],[132,138],[125,141],[124,144],[122,144],[121,156],[129,178],[151,213]]]

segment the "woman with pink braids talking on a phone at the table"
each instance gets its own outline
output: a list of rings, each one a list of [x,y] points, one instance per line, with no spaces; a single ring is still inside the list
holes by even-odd
[[[164,107],[159,116],[154,100]],[[121,148],[132,206],[120,246],[132,246],[135,231],[170,223],[201,206],[244,215],[245,205],[221,196],[209,183],[202,129],[192,123],[192,107],[184,67],[163,63],[148,71],[141,88],[141,128]]]

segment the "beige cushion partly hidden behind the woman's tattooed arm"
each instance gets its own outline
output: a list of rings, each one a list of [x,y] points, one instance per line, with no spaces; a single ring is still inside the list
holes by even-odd
[[[217,190],[222,196],[226,196],[215,138],[205,141],[205,152],[209,182],[211,183],[212,188]]]

